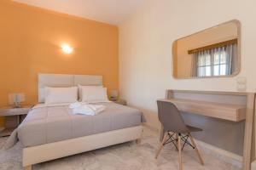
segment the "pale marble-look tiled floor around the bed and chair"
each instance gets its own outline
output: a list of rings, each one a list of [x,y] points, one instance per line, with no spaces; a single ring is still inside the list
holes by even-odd
[[[0,139],[0,147],[7,138]],[[34,170],[176,170],[177,151],[172,144],[166,145],[158,160],[154,159],[158,146],[158,133],[144,127],[142,144],[135,142],[118,144],[108,148],[93,150],[76,156],[68,156],[55,161],[34,165]],[[205,166],[201,166],[195,150],[183,150],[184,170],[238,170],[229,163],[218,160],[210,154],[201,154]],[[0,170],[19,170],[21,166],[21,146],[16,144],[10,150],[0,150]]]

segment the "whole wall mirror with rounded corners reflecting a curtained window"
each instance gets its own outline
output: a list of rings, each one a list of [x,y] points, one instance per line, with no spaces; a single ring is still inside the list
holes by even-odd
[[[240,71],[240,30],[240,22],[231,20],[173,42],[173,77],[237,75]]]

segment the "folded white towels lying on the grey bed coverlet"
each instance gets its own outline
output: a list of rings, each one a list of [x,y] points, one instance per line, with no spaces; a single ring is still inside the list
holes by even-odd
[[[105,109],[106,106],[104,105],[80,105],[79,107],[73,108],[73,114],[94,116]]]

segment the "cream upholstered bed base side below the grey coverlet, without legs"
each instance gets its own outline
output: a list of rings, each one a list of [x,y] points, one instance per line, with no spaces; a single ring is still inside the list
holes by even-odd
[[[89,150],[96,150],[113,144],[141,139],[142,126],[127,127],[106,133],[96,133],[76,139],[41,144],[23,149],[23,167],[44,161],[55,160],[65,156],[73,156]]]

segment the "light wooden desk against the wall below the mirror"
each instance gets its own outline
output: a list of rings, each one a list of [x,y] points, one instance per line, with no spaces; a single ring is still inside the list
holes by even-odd
[[[177,99],[175,93],[187,94],[206,94],[206,95],[220,95],[220,96],[242,96],[246,98],[244,105],[232,105],[227,102],[209,102],[194,99]],[[190,91],[190,90],[166,90],[167,102],[172,102],[177,106],[179,111],[194,113],[202,116],[211,116],[219,119],[224,119],[232,122],[241,122],[245,120],[245,133],[243,144],[243,170],[251,169],[251,154],[252,154],[252,139],[253,139],[253,115],[255,107],[254,93],[240,93],[240,92],[210,92],[210,91]],[[162,127],[160,140],[164,129]]]

